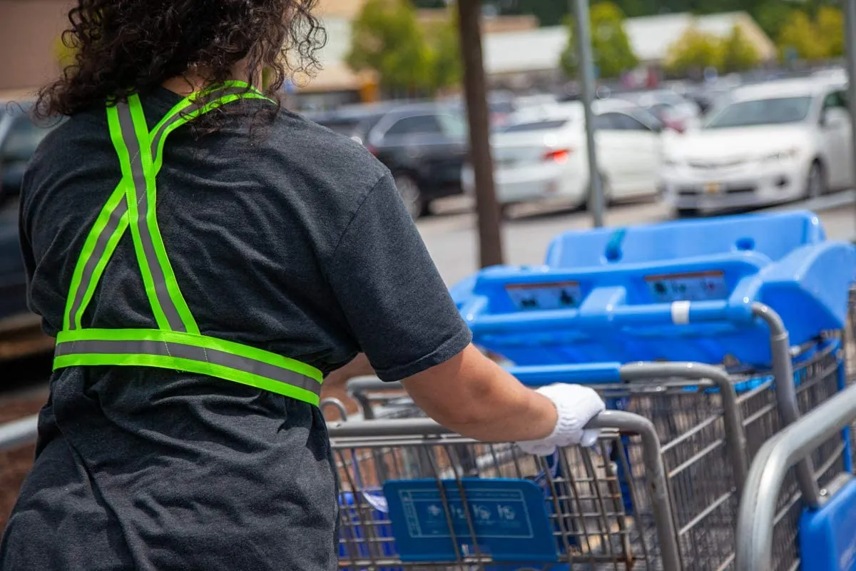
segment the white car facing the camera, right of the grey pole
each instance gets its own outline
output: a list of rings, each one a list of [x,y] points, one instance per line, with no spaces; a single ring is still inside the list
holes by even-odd
[[[734,90],[665,146],[663,197],[679,215],[771,205],[850,186],[847,85],[776,80]]]

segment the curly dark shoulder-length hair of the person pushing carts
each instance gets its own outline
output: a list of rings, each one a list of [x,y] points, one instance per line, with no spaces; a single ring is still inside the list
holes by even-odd
[[[39,92],[36,115],[72,116],[93,106],[146,93],[194,74],[205,83],[258,84],[273,98],[294,73],[312,74],[326,36],[312,15],[317,0],[78,0],[62,43],[74,62]],[[247,77],[233,77],[246,60]],[[258,85],[257,85],[258,86]],[[240,105],[207,114],[222,121]],[[272,110],[270,116],[276,115]]]

